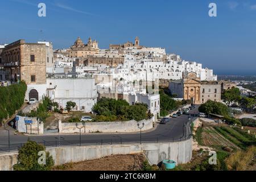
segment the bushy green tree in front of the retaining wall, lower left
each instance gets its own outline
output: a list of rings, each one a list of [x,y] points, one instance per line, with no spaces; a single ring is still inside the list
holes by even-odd
[[[54,160],[49,152],[46,152],[46,164],[39,164],[38,155],[40,151],[46,152],[42,144],[28,140],[24,146],[19,148],[18,163],[14,164],[14,171],[49,171],[54,166]]]

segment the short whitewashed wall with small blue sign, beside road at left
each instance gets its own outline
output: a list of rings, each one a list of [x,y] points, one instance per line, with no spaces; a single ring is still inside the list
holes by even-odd
[[[16,129],[20,133],[27,133],[27,134],[44,134],[44,123],[38,121],[36,118],[28,118],[28,117],[22,117],[17,115],[16,118],[18,118],[18,121],[16,121]],[[25,124],[26,120],[32,120],[31,125]]]

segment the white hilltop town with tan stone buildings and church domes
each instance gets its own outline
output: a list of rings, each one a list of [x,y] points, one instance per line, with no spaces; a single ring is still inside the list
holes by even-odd
[[[220,101],[221,83],[212,69],[166,53],[164,48],[141,46],[138,37],[134,43],[110,44],[109,49],[98,48],[98,42],[91,38],[86,44],[77,38],[70,48],[56,50],[51,42],[18,40],[0,47],[0,66],[2,82],[26,81],[27,101],[48,96],[60,107],[68,101],[76,102],[74,110],[78,111],[92,111],[101,97],[122,98],[131,105],[147,104],[156,119],[160,113],[159,94],[148,93],[145,82],[161,85],[164,80],[180,97],[177,99],[195,104],[209,99]],[[203,84],[203,89],[197,83],[189,90],[189,97],[185,90],[188,82],[184,82],[188,76]],[[209,90],[209,97],[204,96],[204,90]]]

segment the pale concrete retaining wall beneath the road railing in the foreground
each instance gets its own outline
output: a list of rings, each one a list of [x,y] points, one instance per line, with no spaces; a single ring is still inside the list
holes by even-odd
[[[55,165],[69,162],[100,159],[110,155],[128,155],[144,152],[148,162],[158,164],[165,159],[177,164],[188,163],[192,159],[192,139],[172,143],[115,144],[103,146],[55,147],[47,148],[55,160]],[[0,154],[0,171],[12,170],[17,162],[17,152]]]

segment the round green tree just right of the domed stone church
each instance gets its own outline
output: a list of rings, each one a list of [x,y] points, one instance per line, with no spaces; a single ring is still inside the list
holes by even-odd
[[[230,106],[232,102],[240,100],[240,94],[240,90],[238,88],[233,87],[232,89],[225,90],[222,95],[222,98],[226,105]]]

